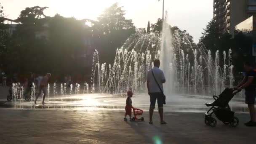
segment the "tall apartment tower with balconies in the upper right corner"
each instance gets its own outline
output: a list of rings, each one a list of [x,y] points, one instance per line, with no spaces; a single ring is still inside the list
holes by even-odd
[[[234,36],[236,25],[256,14],[256,0],[214,0],[213,8],[220,32]]]

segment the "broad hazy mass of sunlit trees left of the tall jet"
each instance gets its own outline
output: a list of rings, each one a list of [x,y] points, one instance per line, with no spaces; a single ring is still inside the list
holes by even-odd
[[[6,37],[5,43],[0,37],[0,60],[8,73],[84,75],[91,72],[91,65],[83,59],[84,54],[93,56],[93,51],[88,49],[98,49],[103,57],[101,61],[110,63],[114,61],[116,48],[135,33],[132,20],[125,19],[125,11],[117,3],[107,8],[98,21],[64,18],[59,14],[48,17],[44,14],[46,8],[25,8],[13,35]]]

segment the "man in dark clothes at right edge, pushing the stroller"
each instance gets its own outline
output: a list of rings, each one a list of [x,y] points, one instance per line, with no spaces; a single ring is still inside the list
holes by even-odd
[[[246,126],[256,126],[256,111],[254,108],[255,104],[255,81],[256,73],[253,71],[252,64],[250,62],[244,63],[245,77],[242,82],[236,86],[238,90],[245,89],[245,103],[248,104],[251,120],[245,123]]]

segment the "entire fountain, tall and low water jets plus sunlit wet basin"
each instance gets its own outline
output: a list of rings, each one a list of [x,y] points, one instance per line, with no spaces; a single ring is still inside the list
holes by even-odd
[[[133,91],[134,105],[148,109],[146,77],[153,67],[152,61],[160,59],[166,83],[164,91],[167,100],[166,111],[202,111],[205,102],[211,102],[210,96],[219,94],[224,88],[232,87],[234,82],[232,50],[210,51],[192,47],[188,37],[181,39],[181,33],[163,22],[161,35],[135,33],[117,48],[112,64],[100,61],[100,53],[95,50],[90,82],[70,84],[48,84],[48,108],[79,109],[95,107],[102,109],[123,109],[127,91]],[[182,45],[186,43],[184,49]],[[20,95],[19,84],[13,84],[13,100]],[[50,96],[50,88],[53,95]],[[83,88],[83,91],[80,91]],[[33,85],[31,101],[35,98]],[[68,90],[67,90],[68,89]],[[60,96],[57,93],[60,91]],[[19,91],[19,92],[18,92]],[[74,91],[74,92],[73,92]],[[83,93],[83,94],[81,94]],[[51,97],[51,98],[50,98]],[[232,104],[240,104],[238,99]],[[32,105],[29,103],[29,107]],[[231,104],[231,106],[232,106]],[[32,106],[31,106],[32,107]],[[234,107],[233,107],[234,108]],[[235,107],[238,111],[243,107]]]

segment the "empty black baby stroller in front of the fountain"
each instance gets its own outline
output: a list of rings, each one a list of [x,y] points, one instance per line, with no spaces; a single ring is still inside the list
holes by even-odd
[[[232,127],[237,127],[239,125],[239,119],[234,116],[235,112],[231,111],[229,107],[229,101],[234,97],[236,93],[239,93],[232,88],[226,88],[220,95],[213,96],[215,101],[213,103],[205,104],[207,107],[211,107],[205,113],[205,124],[210,126],[216,126],[217,120],[212,117],[214,113],[216,117],[222,121],[224,124],[230,124]]]

